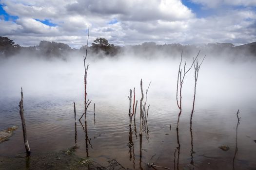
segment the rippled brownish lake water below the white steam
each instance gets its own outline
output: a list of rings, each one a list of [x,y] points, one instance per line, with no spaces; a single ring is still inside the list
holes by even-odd
[[[0,144],[0,170],[76,169],[81,158],[90,158],[102,167],[116,160],[125,169],[135,170],[153,169],[148,167],[151,163],[172,170],[256,170],[256,106],[251,104],[209,106],[196,102],[190,130],[191,101],[184,101],[177,131],[177,105],[170,105],[175,101],[156,99],[150,102],[148,121],[140,137],[139,105],[136,127],[133,120],[130,131],[128,100],[95,99],[95,115],[91,104],[85,125],[84,118],[75,124],[75,100],[24,98],[31,148],[28,159],[18,156],[25,151],[19,100],[0,101],[0,130],[19,126],[8,141]],[[79,119],[83,101],[77,102],[76,108]],[[241,120],[236,131],[238,109]],[[71,157],[58,154],[73,146],[79,148]],[[223,151],[219,146],[229,149]],[[61,167],[58,161],[62,161]]]

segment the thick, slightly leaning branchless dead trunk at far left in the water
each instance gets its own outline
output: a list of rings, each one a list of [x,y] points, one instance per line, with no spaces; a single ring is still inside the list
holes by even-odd
[[[28,144],[26,122],[25,122],[25,118],[24,118],[22,87],[21,87],[20,94],[21,94],[21,100],[20,100],[20,105],[19,106],[20,106],[20,118],[21,118],[21,123],[22,123],[23,139],[24,139],[24,144],[25,144],[27,156],[29,156],[31,152],[30,152],[30,148],[29,148],[29,144]]]

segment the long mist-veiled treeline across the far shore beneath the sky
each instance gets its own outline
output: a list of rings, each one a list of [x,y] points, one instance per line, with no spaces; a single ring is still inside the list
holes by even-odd
[[[122,53],[146,58],[155,58],[159,55],[170,57],[179,56],[181,51],[183,51],[184,56],[189,56],[189,54],[197,53],[199,50],[215,57],[225,57],[227,55],[231,57],[256,57],[256,42],[241,46],[234,46],[231,43],[209,43],[201,45],[181,45],[176,43],[158,45],[154,42],[146,42],[140,45],[120,47],[110,44],[105,38],[97,38],[91,46],[88,46],[88,53],[99,58],[107,56],[115,57]],[[86,45],[83,45],[80,49],[72,49],[67,44],[49,41],[41,41],[37,46],[22,47],[8,37],[0,36],[0,57],[9,57],[21,53],[45,58],[66,58],[72,52],[82,55],[85,51]]]

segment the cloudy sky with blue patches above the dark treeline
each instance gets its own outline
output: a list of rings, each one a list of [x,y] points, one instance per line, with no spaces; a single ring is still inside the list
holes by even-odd
[[[0,0],[0,36],[22,46],[41,40],[79,48],[256,41],[256,0]]]

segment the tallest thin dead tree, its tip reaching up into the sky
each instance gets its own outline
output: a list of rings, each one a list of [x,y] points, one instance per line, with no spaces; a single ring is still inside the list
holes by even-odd
[[[89,41],[89,28],[88,28],[88,35],[87,35],[87,46],[86,46],[86,51],[85,51],[85,56],[83,56],[83,65],[84,65],[84,113],[82,114],[81,118],[84,115],[84,121],[86,122],[86,112],[87,112],[87,108],[88,106],[91,104],[92,101],[89,102],[89,100],[87,101],[86,97],[87,97],[87,92],[86,92],[86,86],[87,86],[87,72],[88,72],[88,67],[89,64],[87,64],[87,66],[85,65],[85,60],[87,57],[87,50],[88,50],[88,41]],[[80,118],[80,119],[81,119]],[[79,120],[80,120],[79,119]]]

